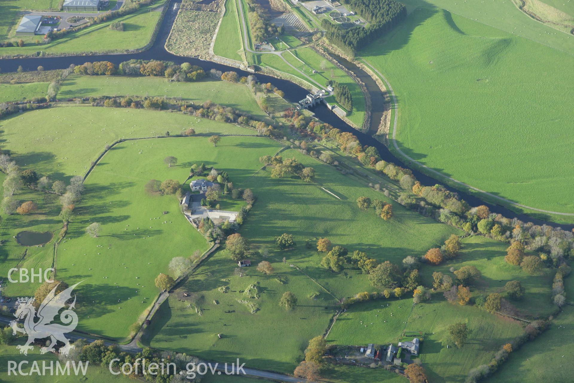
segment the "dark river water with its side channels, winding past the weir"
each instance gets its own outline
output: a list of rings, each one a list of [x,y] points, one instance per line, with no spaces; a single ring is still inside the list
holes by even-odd
[[[0,68],[2,68],[2,72],[15,72],[18,68],[18,65],[22,65],[22,67],[26,71],[34,71],[38,67],[38,65],[42,65],[44,69],[63,69],[67,68],[70,64],[81,65],[86,61],[110,61],[114,64],[119,64],[122,61],[127,61],[131,59],[141,59],[141,60],[166,60],[166,61],[173,61],[176,64],[181,64],[184,62],[191,63],[193,65],[199,65],[203,67],[205,71],[208,71],[212,68],[218,69],[220,71],[235,71],[239,73],[240,76],[248,76],[252,75],[251,72],[242,71],[241,69],[237,69],[234,67],[228,67],[227,65],[214,63],[212,61],[205,61],[199,59],[193,59],[191,57],[182,57],[172,55],[165,50],[165,41],[168,38],[169,31],[172,28],[173,22],[175,20],[177,11],[173,10],[173,4],[179,3],[181,0],[172,0],[167,6],[168,11],[166,12],[164,21],[160,27],[160,32],[158,33],[158,37],[151,48],[149,48],[145,52],[140,53],[122,53],[122,54],[111,54],[111,55],[90,55],[90,56],[64,56],[64,57],[28,57],[28,58],[21,58],[21,59],[1,59],[0,60]],[[1,52],[1,51],[0,51]],[[356,67],[356,65],[352,63],[348,63],[348,61],[343,60],[342,62],[344,65],[351,65],[351,69],[359,78],[367,85],[367,90],[369,90],[371,94],[371,98],[373,99],[373,114],[372,114],[372,122],[371,128],[374,126],[373,124],[378,125],[378,121],[381,119],[383,107],[382,107],[382,93],[376,86],[376,83],[371,79],[362,69]],[[305,98],[308,94],[308,91],[304,88],[294,84],[288,80],[276,79],[271,76],[261,75],[259,73],[255,73],[257,79],[260,82],[269,82],[272,83],[274,86],[280,88],[282,91],[285,92],[285,98],[291,102],[297,102]],[[375,140],[370,134],[361,133],[358,130],[355,130],[350,125],[347,125],[342,119],[340,119],[335,113],[329,110],[324,105],[316,106],[313,109],[316,117],[319,118],[321,121],[327,122],[332,126],[339,128],[342,131],[349,131],[353,133],[361,142],[362,145],[369,145],[374,146],[379,150],[381,154],[381,158],[385,161],[389,161],[400,165],[404,168],[410,168],[409,164],[405,164],[402,160],[398,159],[389,151],[389,149],[381,144],[381,142]],[[370,129],[372,131],[372,129]],[[412,169],[413,175],[416,177],[418,181],[421,182],[423,185],[435,185],[435,184],[442,184],[441,181],[434,179],[416,169]],[[461,192],[454,188],[449,188],[451,191],[455,191],[459,194],[461,199],[466,200],[471,206],[479,206],[479,205],[486,205],[490,208],[490,211],[502,214],[507,218],[518,218],[525,222],[533,222],[536,225],[550,225],[553,227],[562,227],[565,230],[572,230],[574,229],[574,225],[565,225],[565,224],[558,224],[555,222],[549,221],[549,216],[545,214],[541,214],[538,218],[532,218],[532,216],[527,216],[524,214],[517,214],[514,211],[511,211],[509,208],[500,206],[498,204],[487,203],[481,200],[480,198],[470,195],[464,192]]]

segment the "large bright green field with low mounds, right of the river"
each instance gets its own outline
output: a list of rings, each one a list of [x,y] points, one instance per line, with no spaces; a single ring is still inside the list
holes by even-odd
[[[427,8],[361,53],[393,85],[406,154],[504,198],[574,212],[563,102],[574,57]]]

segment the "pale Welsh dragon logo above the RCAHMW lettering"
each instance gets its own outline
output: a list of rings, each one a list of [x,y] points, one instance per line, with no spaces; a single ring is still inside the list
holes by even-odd
[[[70,344],[68,339],[64,336],[66,332],[73,331],[77,326],[77,315],[72,310],[76,304],[76,295],[73,296],[73,302],[69,304],[68,308],[61,312],[60,321],[67,326],[63,326],[59,323],[51,323],[55,316],[61,308],[64,308],[65,303],[72,298],[72,290],[79,285],[81,282],[68,287],[64,291],[56,295],[56,285],[51,292],[44,298],[38,312],[34,307],[34,298],[25,297],[18,298],[18,308],[14,313],[14,316],[18,319],[24,319],[24,328],[17,326],[15,320],[10,322],[10,327],[12,328],[13,335],[16,332],[22,332],[23,334],[28,334],[28,341],[25,345],[16,346],[20,350],[20,354],[28,355],[28,350],[32,350],[34,346],[31,346],[36,339],[50,338],[51,343],[49,346],[42,347],[40,353],[45,354],[48,351],[52,351],[56,346],[56,341],[64,343],[64,347],[60,349],[60,353],[68,355],[69,351],[73,349],[73,345]],[[36,322],[34,319],[38,318]]]

